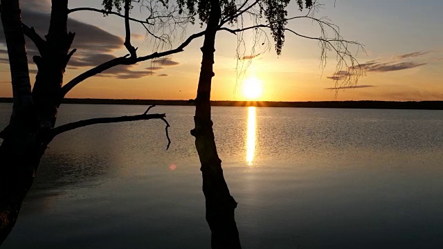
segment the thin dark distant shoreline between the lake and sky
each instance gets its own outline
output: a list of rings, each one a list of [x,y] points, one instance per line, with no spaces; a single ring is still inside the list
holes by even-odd
[[[0,98],[0,102],[12,102],[12,98]],[[131,105],[174,105],[192,106],[189,100],[113,100],[67,98],[64,104],[131,104]],[[422,109],[443,110],[443,101],[308,101],[308,102],[273,102],[273,101],[211,101],[213,107],[293,107],[293,108],[339,108],[339,109]]]

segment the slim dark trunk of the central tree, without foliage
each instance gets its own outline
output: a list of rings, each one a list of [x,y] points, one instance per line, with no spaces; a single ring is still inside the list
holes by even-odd
[[[211,1],[210,17],[204,39],[201,61],[201,71],[197,98],[195,99],[195,147],[199,154],[201,173],[203,176],[203,192],[206,199],[206,221],[212,232],[212,248],[241,248],[237,225],[235,223],[235,208],[237,203],[230,196],[228,185],[224,180],[221,160],[215,146],[213,122],[210,119],[210,89],[213,72],[215,35],[221,10],[219,1]]]

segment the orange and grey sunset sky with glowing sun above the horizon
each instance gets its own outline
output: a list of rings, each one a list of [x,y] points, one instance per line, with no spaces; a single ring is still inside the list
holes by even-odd
[[[443,1],[318,2],[324,6],[318,9],[316,17],[328,17],[340,27],[343,39],[364,45],[365,52],[350,47],[365,70],[365,75],[356,85],[337,89],[335,80],[341,80],[343,73],[334,75],[336,55],[329,51],[323,68],[320,64],[321,49],[315,40],[287,33],[282,54],[278,56],[269,34],[270,49],[266,49],[265,43],[265,46],[251,51],[252,33],[244,33],[241,57],[246,59],[237,59],[237,36],[219,31],[211,98],[269,101],[443,100]],[[71,0],[69,8],[76,7],[101,8],[101,0]],[[40,35],[46,35],[50,1],[21,1],[21,9],[24,23],[35,27]],[[289,6],[289,17],[305,14],[295,5]],[[143,19],[147,12],[134,8],[132,15]],[[71,13],[69,18],[68,28],[76,33],[72,48],[77,48],[78,52],[66,68],[65,83],[93,66],[127,54],[123,46],[124,22],[120,17],[103,17],[100,13],[80,11]],[[245,18],[244,26],[250,24],[251,20]],[[179,29],[172,48],[203,28],[197,21],[194,26],[189,24],[186,30]],[[288,28],[301,35],[319,36],[318,26],[311,21],[294,19],[289,22]],[[156,51],[152,37],[140,24],[132,23],[132,42],[138,47],[140,56]],[[183,52],[170,57],[111,68],[75,86],[67,98],[195,98],[202,44],[203,39],[195,39]],[[30,58],[37,55],[30,41],[27,41],[27,49]],[[33,82],[36,67],[32,59],[29,64]],[[239,72],[244,73],[237,76]],[[0,77],[0,97],[11,97],[3,30],[0,33]]]

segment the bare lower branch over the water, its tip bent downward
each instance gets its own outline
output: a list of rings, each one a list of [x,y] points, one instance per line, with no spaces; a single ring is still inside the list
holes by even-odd
[[[168,146],[167,149],[170,147],[171,140],[168,133],[168,128],[170,127],[170,124],[165,119],[164,113],[154,113],[154,114],[141,114],[136,116],[121,116],[121,117],[112,117],[112,118],[91,118],[88,120],[80,120],[77,122],[71,122],[69,124],[63,124],[60,125],[60,127],[55,127],[51,130],[51,133],[49,134],[48,140],[52,140],[55,136],[59,135],[60,133],[64,133],[66,131],[72,131],[73,129],[78,129],[80,127],[86,127],[93,124],[109,124],[109,123],[115,123],[115,122],[130,122],[130,121],[138,121],[138,120],[152,120],[152,119],[159,119],[165,122],[166,124],[166,138],[168,138]]]

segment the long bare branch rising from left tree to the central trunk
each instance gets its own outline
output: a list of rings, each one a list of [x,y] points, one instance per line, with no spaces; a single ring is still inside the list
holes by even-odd
[[[61,93],[60,93],[60,99],[64,98],[66,93],[68,93],[69,91],[71,91],[71,89],[73,89],[75,86],[80,84],[80,82],[86,80],[89,77],[92,77],[93,75],[97,75],[98,73],[102,73],[103,71],[105,71],[105,70],[107,70],[109,68],[112,68],[114,66],[136,64],[137,62],[143,62],[143,61],[146,61],[148,59],[154,59],[154,58],[159,58],[159,57],[163,57],[163,56],[172,55],[174,53],[183,52],[183,49],[186,46],[188,46],[190,44],[190,42],[192,42],[193,39],[201,37],[204,34],[205,34],[205,31],[201,31],[200,33],[196,33],[194,35],[191,35],[190,37],[188,37],[188,39],[186,39],[185,42],[180,44],[180,46],[178,46],[177,48],[174,48],[172,50],[167,50],[167,51],[163,51],[163,52],[160,52],[160,53],[159,52],[155,52],[155,53],[152,53],[150,55],[145,55],[143,57],[135,57],[135,58],[134,57],[128,57],[129,55],[125,55],[123,57],[117,57],[115,59],[111,59],[108,62],[100,64],[99,66],[96,66],[95,68],[91,68],[89,71],[86,71],[86,72],[82,73],[81,75],[78,75],[73,80],[71,80],[70,82],[65,84],[62,87],[62,90],[61,90]]]

